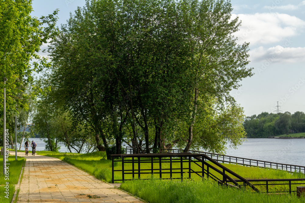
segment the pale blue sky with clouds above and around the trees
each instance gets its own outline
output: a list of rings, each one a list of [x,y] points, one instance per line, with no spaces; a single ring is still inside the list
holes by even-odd
[[[254,75],[231,91],[245,115],[279,110],[305,112],[305,1],[232,0],[232,18],[242,21],[235,33],[238,44],[249,42],[248,68]],[[32,16],[59,9],[57,25],[66,20],[85,0],[33,0]],[[43,47],[45,48],[45,47]]]

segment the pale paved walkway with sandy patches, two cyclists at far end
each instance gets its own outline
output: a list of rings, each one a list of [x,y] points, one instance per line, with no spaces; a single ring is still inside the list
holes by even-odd
[[[25,157],[23,152],[17,155]],[[17,202],[142,201],[60,159],[29,153]]]

